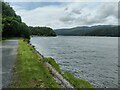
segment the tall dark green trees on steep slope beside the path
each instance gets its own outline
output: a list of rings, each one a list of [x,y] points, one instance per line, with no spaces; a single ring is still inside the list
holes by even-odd
[[[8,3],[2,2],[2,36],[30,38],[28,26]]]

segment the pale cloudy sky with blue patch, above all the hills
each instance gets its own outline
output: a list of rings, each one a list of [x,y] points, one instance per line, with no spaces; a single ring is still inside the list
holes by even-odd
[[[13,0],[9,3],[28,26],[48,26],[59,29],[118,24],[118,2],[110,2],[110,0],[109,2],[107,0],[104,2],[100,0],[92,0],[92,2],[87,0],[84,2],[35,1]]]

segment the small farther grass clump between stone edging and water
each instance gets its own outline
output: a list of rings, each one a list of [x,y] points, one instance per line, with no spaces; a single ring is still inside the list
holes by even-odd
[[[51,64],[61,74],[62,71],[60,69],[60,66],[56,63],[56,61],[53,58],[47,57],[47,58],[44,58],[44,61]]]

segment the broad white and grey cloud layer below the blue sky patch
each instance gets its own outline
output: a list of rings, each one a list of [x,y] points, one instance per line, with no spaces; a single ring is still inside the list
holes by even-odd
[[[88,3],[86,5],[83,3],[72,3],[61,7],[40,7],[31,11],[20,9],[18,14],[22,16],[23,21],[28,25],[48,25],[58,28],[79,25],[114,24],[117,18],[117,8],[118,6],[114,3]],[[49,16],[52,17],[50,18]],[[112,18],[109,18],[110,16]],[[34,22],[31,22],[32,19],[35,19]]]

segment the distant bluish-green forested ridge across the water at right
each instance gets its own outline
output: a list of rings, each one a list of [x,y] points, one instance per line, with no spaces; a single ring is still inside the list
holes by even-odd
[[[57,35],[64,36],[111,36],[118,37],[119,28],[114,25],[97,25],[97,26],[83,26],[70,29],[57,29],[55,30]]]

